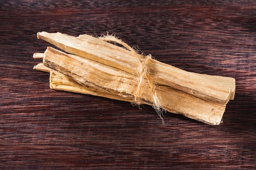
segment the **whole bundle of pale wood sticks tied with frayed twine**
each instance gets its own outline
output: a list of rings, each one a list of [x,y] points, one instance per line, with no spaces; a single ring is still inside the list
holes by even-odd
[[[47,47],[33,56],[43,59],[34,69],[50,73],[52,89],[148,104],[161,118],[166,110],[211,125],[220,124],[234,99],[234,78],[181,70],[137,53],[112,35],[38,32],[37,37],[62,50]]]

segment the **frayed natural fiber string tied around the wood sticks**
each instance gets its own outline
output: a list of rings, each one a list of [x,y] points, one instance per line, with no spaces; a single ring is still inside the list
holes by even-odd
[[[159,115],[159,117],[162,119],[162,123],[164,124],[164,119],[162,118],[162,113],[163,113],[163,109],[161,108],[161,102],[160,99],[155,91],[155,87],[156,84],[151,81],[150,76],[149,76],[149,72],[148,72],[148,68],[147,68],[147,63],[150,59],[152,59],[152,56],[149,54],[147,56],[144,55],[138,55],[138,53],[132,48],[130,47],[128,44],[126,44],[125,42],[123,42],[122,40],[118,39],[117,37],[115,37],[114,35],[103,35],[103,37],[99,37],[99,39],[103,40],[103,41],[108,41],[108,42],[115,42],[118,43],[122,46],[124,46],[126,49],[128,49],[129,51],[131,51],[132,55],[135,56],[138,60],[139,60],[139,65],[140,67],[138,68],[138,87],[137,87],[137,91],[135,92],[135,99],[134,102],[138,105],[141,104],[141,93],[142,93],[142,85],[145,82],[144,78],[146,78],[148,80],[148,83],[150,85],[150,89],[151,89],[151,93],[152,93],[152,97],[153,97],[153,108],[155,108],[157,114]],[[145,59],[143,60],[143,57],[145,57]]]

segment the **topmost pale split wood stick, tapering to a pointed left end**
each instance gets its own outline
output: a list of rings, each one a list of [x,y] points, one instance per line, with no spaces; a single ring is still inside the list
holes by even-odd
[[[38,32],[37,35],[38,39],[54,44],[67,53],[79,55],[137,75],[138,61],[130,51],[124,48],[90,35],[74,37],[62,33],[47,32]],[[155,79],[157,84],[171,86],[219,104],[227,104],[229,99],[234,99],[234,78],[191,73],[157,60],[149,60],[147,66],[150,69],[150,76]]]

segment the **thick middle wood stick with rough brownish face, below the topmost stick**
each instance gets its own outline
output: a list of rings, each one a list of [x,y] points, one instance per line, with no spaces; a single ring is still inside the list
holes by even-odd
[[[43,63],[49,68],[72,77],[79,84],[100,89],[103,93],[118,95],[130,102],[134,99],[137,76],[130,73],[84,57],[66,54],[52,47],[48,47],[45,51]],[[52,84],[54,82],[56,81],[52,81]],[[143,89],[141,103],[152,104],[152,92],[148,82],[144,83]],[[209,102],[168,86],[156,86],[155,90],[162,98],[163,109],[207,124],[220,124],[225,104]]]

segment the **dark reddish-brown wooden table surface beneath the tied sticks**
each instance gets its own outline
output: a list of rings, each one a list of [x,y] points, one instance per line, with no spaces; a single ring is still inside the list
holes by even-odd
[[[223,123],[54,91],[38,31],[113,33],[156,60],[236,79]],[[256,169],[256,3],[0,0],[0,169]]]

